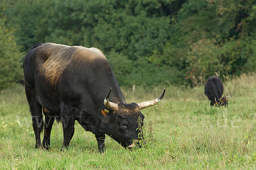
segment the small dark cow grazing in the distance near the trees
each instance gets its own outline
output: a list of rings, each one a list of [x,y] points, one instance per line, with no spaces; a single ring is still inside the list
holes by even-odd
[[[204,94],[208,97],[210,105],[227,105],[227,97],[222,97],[223,94],[223,83],[217,76],[212,76],[207,79],[204,86]]]

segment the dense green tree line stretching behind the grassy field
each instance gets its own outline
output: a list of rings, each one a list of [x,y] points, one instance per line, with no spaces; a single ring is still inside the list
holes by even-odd
[[[0,88],[35,42],[96,47],[121,86],[256,70],[256,0],[1,0]]]

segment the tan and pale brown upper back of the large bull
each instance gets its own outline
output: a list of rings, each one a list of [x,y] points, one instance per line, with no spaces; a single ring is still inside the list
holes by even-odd
[[[29,51],[30,52],[30,51]],[[24,71],[31,70],[40,77],[38,82],[47,82],[50,86],[56,86],[61,78],[61,74],[70,62],[81,64],[90,62],[102,52],[97,48],[85,48],[81,46],[68,46],[54,43],[44,43],[25,57],[29,60],[26,64],[24,60]],[[104,56],[105,57],[105,56]],[[37,80],[35,80],[37,83]],[[40,82],[41,83],[41,82]]]

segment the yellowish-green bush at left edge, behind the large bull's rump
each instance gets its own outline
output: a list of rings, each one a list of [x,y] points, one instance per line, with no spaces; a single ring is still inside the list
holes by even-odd
[[[4,26],[4,20],[0,19],[0,89],[23,77],[21,69],[23,54],[20,53],[12,32]]]

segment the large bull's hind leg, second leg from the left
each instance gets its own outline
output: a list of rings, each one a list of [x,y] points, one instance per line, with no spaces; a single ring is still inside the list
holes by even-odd
[[[44,108],[43,108],[44,111]],[[48,111],[49,112],[49,111]],[[50,149],[50,135],[52,131],[52,125],[55,120],[55,116],[52,113],[48,113],[48,115],[44,112],[45,119],[44,119],[44,139],[43,139],[43,147],[46,150]]]

